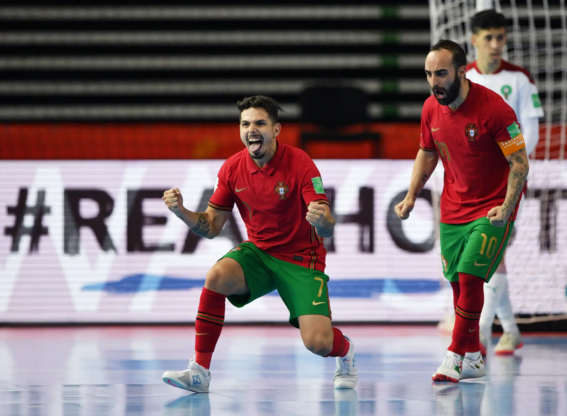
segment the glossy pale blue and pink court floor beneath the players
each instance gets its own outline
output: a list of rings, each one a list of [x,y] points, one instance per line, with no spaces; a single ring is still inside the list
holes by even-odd
[[[194,328],[0,328],[0,415],[567,415],[567,335],[532,334],[489,374],[435,384],[448,337],[426,326],[340,326],[359,381],[333,389],[334,359],[291,326],[226,326],[209,394],[161,380],[184,369]]]

